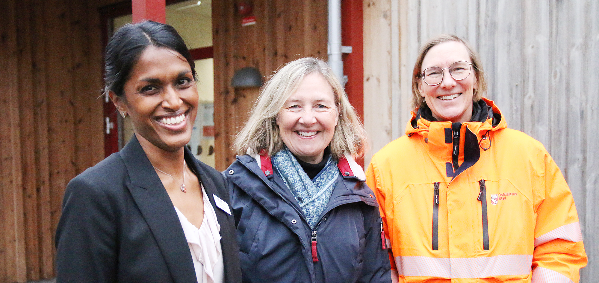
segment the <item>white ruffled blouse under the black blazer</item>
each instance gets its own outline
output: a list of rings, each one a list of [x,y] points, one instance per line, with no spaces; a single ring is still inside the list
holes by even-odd
[[[222,283],[224,267],[220,249],[220,225],[204,186],[201,185],[201,188],[204,196],[204,219],[199,229],[187,220],[179,208],[175,207],[175,210],[189,245],[198,283]]]

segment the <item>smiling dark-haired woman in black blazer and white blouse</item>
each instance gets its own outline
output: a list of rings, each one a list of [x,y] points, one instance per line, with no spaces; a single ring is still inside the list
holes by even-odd
[[[198,92],[183,39],[145,21],[106,50],[105,91],[135,136],[66,187],[56,282],[241,282],[225,180],[185,147]]]

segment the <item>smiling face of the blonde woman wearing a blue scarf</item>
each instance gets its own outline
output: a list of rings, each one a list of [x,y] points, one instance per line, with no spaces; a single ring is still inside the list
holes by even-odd
[[[283,143],[298,159],[317,164],[331,143],[338,119],[331,85],[314,72],[285,101],[277,125]]]

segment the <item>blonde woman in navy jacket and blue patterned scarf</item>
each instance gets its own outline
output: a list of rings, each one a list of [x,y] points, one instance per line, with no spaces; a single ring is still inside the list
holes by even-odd
[[[325,61],[280,69],[235,146],[245,155],[223,174],[244,282],[391,282],[378,205],[354,161],[364,128]]]

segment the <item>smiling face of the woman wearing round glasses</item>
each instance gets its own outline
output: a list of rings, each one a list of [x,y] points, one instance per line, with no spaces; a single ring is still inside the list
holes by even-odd
[[[468,50],[461,42],[448,41],[432,47],[422,61],[422,70],[429,67],[441,69],[457,61],[471,63]],[[420,70],[420,72],[422,72]],[[419,79],[418,90],[431,109],[432,116],[438,121],[467,122],[472,116],[474,88],[476,87],[476,70],[460,81],[443,70],[443,81],[438,85],[427,85]]]

